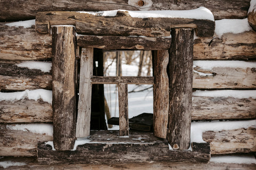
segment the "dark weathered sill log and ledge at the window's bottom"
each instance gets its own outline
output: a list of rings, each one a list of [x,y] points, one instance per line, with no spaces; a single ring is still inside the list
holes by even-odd
[[[193,151],[169,150],[166,139],[153,133],[131,132],[129,138],[118,137],[118,131],[92,131],[90,142],[75,151],[52,151],[51,146],[38,143],[38,162],[112,164],[131,162],[201,162],[210,160],[209,143],[192,143]],[[122,154],[120,154],[122,153]]]

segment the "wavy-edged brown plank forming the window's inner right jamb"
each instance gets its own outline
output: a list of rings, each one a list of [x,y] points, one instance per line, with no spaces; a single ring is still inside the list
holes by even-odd
[[[169,110],[168,50],[154,51],[154,135],[166,139]]]

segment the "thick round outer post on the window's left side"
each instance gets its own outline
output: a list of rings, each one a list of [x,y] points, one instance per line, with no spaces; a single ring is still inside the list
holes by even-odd
[[[56,150],[74,147],[76,128],[75,28],[52,27],[53,144]]]

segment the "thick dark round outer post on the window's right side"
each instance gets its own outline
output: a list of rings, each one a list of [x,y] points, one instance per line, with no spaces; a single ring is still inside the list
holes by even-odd
[[[171,35],[167,139],[173,149],[185,150],[190,145],[193,29],[171,29]]]

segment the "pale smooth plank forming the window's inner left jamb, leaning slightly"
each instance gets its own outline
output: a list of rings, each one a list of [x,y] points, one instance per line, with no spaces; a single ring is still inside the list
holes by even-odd
[[[92,84],[90,79],[92,77],[92,73],[93,48],[82,48],[76,137],[88,137],[90,135],[92,98]]]

